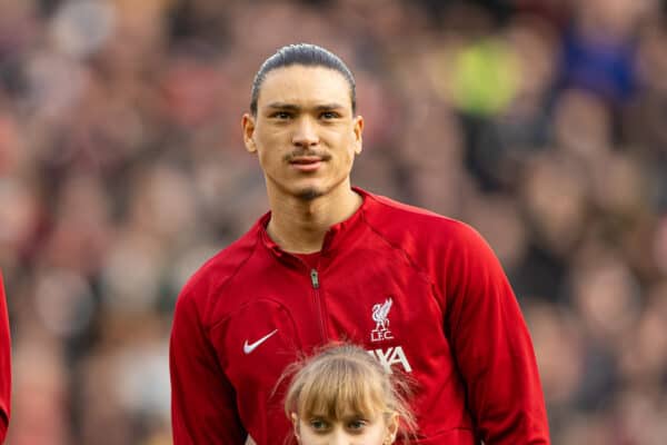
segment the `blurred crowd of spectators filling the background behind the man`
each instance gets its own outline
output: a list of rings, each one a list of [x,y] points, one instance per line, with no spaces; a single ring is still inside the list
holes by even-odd
[[[299,41],[356,75],[354,182],[496,250],[554,444],[664,444],[666,3],[1,0],[9,444],[170,443],[175,299],[268,208],[240,117]]]

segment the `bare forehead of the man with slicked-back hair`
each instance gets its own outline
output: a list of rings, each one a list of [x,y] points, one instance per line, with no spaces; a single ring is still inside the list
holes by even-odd
[[[350,86],[342,73],[327,67],[293,65],[271,70],[261,87],[258,102],[350,103]]]

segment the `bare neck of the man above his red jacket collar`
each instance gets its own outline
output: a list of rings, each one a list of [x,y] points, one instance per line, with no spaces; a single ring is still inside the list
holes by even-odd
[[[352,216],[362,198],[348,187],[316,199],[270,194],[269,201],[271,239],[285,251],[311,254],[321,250],[329,228]]]

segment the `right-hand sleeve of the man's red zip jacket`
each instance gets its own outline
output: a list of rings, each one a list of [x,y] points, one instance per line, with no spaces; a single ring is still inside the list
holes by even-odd
[[[448,258],[446,330],[486,445],[549,444],[528,328],[487,243],[464,226]]]

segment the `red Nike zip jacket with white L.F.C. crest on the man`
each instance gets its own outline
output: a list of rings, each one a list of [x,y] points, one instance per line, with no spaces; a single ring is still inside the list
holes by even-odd
[[[362,345],[411,375],[420,445],[548,444],[535,354],[488,245],[468,226],[355,189],[315,267],[265,215],[203,265],[177,301],[170,345],[175,445],[283,445],[276,382],[298,352]]]

